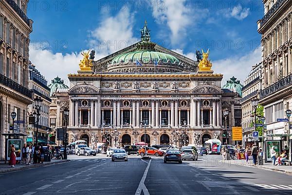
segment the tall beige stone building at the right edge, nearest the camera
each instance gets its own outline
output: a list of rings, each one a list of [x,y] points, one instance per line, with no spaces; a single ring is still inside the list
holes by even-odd
[[[262,35],[262,90],[267,135],[289,133],[285,111],[292,109],[292,0],[263,0],[265,15],[258,20]],[[279,139],[279,137],[274,137]],[[286,139],[286,138],[285,138]],[[282,142],[287,144],[287,139]]]

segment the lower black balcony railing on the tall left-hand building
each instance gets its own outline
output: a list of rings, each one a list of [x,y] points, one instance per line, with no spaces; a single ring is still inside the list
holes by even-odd
[[[33,97],[33,93],[31,90],[27,89],[26,87],[23,87],[22,85],[19,85],[17,82],[11,80],[10,78],[5,77],[4,75],[0,74],[0,84],[3,84],[15,91],[17,91],[18,93],[28,97],[28,98],[32,98]]]

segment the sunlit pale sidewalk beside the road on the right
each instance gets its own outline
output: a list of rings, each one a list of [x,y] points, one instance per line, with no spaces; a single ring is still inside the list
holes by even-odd
[[[272,164],[272,162],[264,162],[264,165],[256,165],[253,166],[253,161],[249,160],[249,164],[246,163],[246,160],[239,159],[239,160],[220,160],[221,162],[225,163],[231,163],[231,164],[237,164],[240,166],[246,166],[246,167],[254,167],[258,169],[265,169],[265,170],[270,170],[270,171],[275,171],[275,172],[281,172],[281,173],[286,173],[286,174],[292,174],[292,166],[275,166]]]

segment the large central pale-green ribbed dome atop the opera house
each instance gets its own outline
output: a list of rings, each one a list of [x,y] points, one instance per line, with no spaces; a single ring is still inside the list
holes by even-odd
[[[129,59],[133,63],[135,63],[136,60],[139,61],[140,59],[142,59],[142,63],[149,63],[149,59],[152,59],[153,62],[155,60],[159,62],[159,60],[161,59],[163,62],[167,62],[168,60],[170,60],[171,63],[175,63],[175,62],[179,63],[179,60],[172,55],[164,54],[164,53],[156,52],[152,50],[138,50],[138,51],[134,51],[134,52],[126,53],[126,54],[121,54],[115,57],[114,59],[112,59],[111,63],[112,64],[116,64],[120,62],[127,63],[129,62]]]

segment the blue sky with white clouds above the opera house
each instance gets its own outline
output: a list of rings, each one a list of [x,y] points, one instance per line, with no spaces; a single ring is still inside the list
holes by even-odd
[[[30,60],[49,81],[76,73],[82,49],[93,48],[97,60],[140,40],[145,20],[165,48],[192,59],[210,48],[222,84],[233,75],[243,81],[261,60],[261,0],[31,0],[28,17]]]

